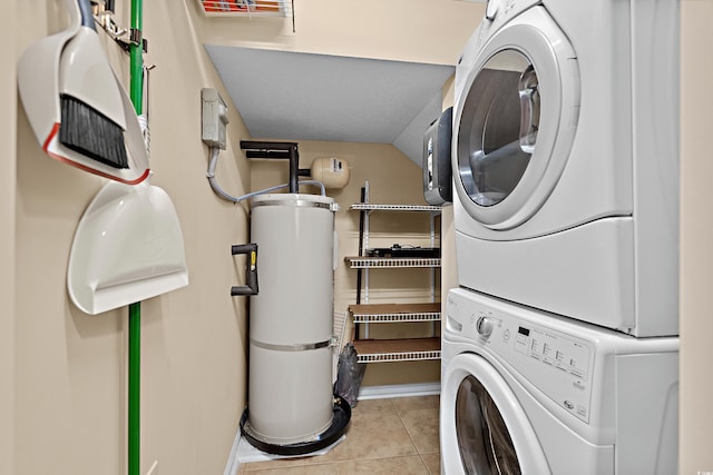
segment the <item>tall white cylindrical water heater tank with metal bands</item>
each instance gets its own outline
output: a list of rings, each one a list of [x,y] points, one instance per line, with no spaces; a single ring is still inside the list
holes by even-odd
[[[260,293],[250,301],[248,432],[268,446],[319,439],[334,405],[335,204],[274,194],[253,198],[251,209]]]

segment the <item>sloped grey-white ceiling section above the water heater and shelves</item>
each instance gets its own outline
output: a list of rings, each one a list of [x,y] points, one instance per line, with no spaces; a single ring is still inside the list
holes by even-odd
[[[421,164],[452,66],[205,46],[251,139],[393,144]],[[228,118],[231,112],[228,111]]]

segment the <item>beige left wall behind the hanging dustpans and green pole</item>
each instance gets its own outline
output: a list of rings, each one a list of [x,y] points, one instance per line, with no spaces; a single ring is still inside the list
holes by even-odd
[[[17,7],[10,8],[6,28],[14,41],[8,50],[16,58],[31,41],[61,27],[57,11],[62,2],[11,3]],[[141,305],[141,474],[154,461],[163,474],[222,473],[246,397],[245,301],[229,296],[243,274],[229,246],[247,238],[246,210],[219,200],[205,178],[201,88],[222,86],[197,43],[193,8],[192,2],[152,1],[144,11],[146,60],[157,66],[150,78],[153,182],[177,209],[191,285]],[[126,77],[128,58],[114,44],[109,52]],[[14,72],[2,81],[12,103]],[[223,96],[227,98],[224,90]],[[127,310],[87,316],[71,304],[65,284],[77,222],[104,181],[45,156],[21,106],[2,110],[2,147],[10,157],[16,157],[17,113],[17,174],[14,159],[2,160],[2,180],[9,184],[1,187],[6,199],[0,211],[3,222],[10,222],[2,226],[2,253],[8,253],[6,234],[11,232],[11,244],[17,226],[17,266],[10,276],[14,293],[3,285],[3,297],[11,291],[10,308],[0,324],[3,375],[6,362],[13,362],[4,353],[13,350],[14,357],[14,447],[2,439],[0,464],[13,468],[0,472],[126,473]],[[229,133],[244,133],[234,108],[228,116]],[[250,187],[247,161],[233,147],[223,152],[218,171],[227,188],[240,192]],[[0,387],[4,392],[8,386]]]

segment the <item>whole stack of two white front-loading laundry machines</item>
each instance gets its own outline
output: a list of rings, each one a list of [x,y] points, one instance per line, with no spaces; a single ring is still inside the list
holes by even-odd
[[[456,69],[445,474],[677,472],[676,0],[490,0]]]

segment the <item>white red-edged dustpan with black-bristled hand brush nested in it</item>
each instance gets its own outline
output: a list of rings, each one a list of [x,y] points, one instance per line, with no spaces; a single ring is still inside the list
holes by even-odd
[[[149,175],[138,117],[114,75],[89,0],[65,0],[69,26],[18,63],[28,119],[52,158],[128,185]]]

